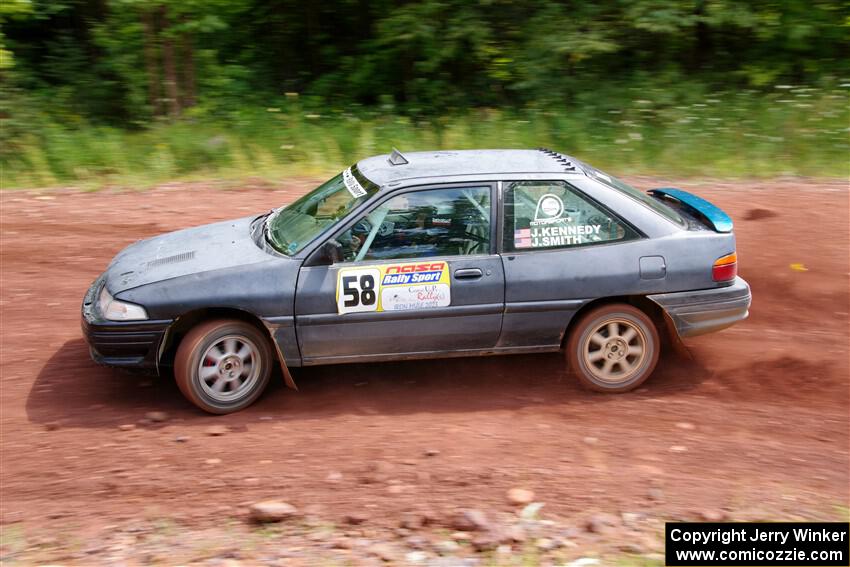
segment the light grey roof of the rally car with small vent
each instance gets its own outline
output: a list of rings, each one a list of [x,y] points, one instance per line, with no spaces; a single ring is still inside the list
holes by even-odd
[[[401,159],[399,159],[399,157]],[[391,161],[392,159],[392,161]],[[404,162],[407,163],[404,163]],[[397,164],[397,165],[394,165]],[[579,173],[581,162],[564,154],[537,150],[450,150],[384,154],[357,163],[370,181],[385,186],[402,180],[505,173]]]

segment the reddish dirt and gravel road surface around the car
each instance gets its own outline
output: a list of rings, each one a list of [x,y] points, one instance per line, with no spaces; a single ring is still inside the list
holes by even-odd
[[[143,514],[204,526],[280,498],[330,522],[361,512],[389,525],[406,510],[510,509],[517,486],[576,521],[841,514],[847,183],[634,181],[678,183],[730,212],[754,295],[749,320],[663,356],[639,391],[584,391],[557,354],[342,365],[298,371],[300,392],[278,380],[225,417],[194,409],[167,377],[96,366],[80,301],[132,241],[260,212],[310,183],[3,192],[0,523],[85,533]],[[167,419],[145,423],[151,411]],[[207,435],[214,424],[227,432]]]

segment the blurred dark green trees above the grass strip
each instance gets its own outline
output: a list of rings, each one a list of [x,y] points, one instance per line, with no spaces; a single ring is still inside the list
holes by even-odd
[[[572,102],[647,78],[673,90],[683,77],[721,90],[817,84],[850,76],[848,21],[850,4],[824,0],[10,0],[0,8],[15,84],[58,102],[60,114],[122,126],[167,114],[157,100],[168,98],[169,81],[191,99],[180,112],[196,98],[227,107],[299,92],[338,105],[388,102],[412,115]],[[12,59],[3,61],[8,68]]]

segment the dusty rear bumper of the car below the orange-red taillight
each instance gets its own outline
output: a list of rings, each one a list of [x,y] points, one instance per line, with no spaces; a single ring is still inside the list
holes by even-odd
[[[670,316],[682,338],[713,333],[746,319],[752,302],[750,286],[740,277],[726,287],[647,297]]]

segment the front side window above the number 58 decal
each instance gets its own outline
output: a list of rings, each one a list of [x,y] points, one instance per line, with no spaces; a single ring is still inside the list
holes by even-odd
[[[490,253],[490,188],[396,195],[338,234],[344,262]]]

